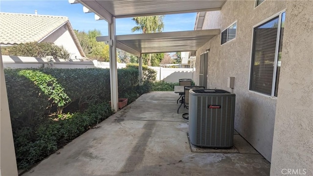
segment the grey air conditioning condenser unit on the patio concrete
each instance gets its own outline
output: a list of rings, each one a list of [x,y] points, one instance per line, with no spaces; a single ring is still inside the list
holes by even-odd
[[[236,95],[220,89],[189,91],[189,138],[201,147],[233,146]]]

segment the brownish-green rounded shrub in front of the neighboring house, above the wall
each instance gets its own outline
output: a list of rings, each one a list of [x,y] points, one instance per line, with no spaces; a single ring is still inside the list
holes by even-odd
[[[3,55],[16,55],[28,57],[46,57],[53,56],[55,59],[69,59],[69,52],[62,46],[59,47],[53,43],[28,42],[19,45],[5,47],[1,49]]]

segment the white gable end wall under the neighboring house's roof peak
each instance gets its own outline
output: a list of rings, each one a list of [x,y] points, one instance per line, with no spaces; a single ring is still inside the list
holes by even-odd
[[[50,34],[47,38],[45,38],[42,42],[52,42],[55,45],[63,46],[71,55],[71,59],[75,59],[75,56],[78,58],[82,58],[77,46],[74,42],[74,39],[70,35],[67,28],[61,26],[59,29]]]

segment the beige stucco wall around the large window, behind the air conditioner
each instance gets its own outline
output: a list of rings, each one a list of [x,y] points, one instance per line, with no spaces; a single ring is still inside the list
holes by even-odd
[[[286,8],[286,1],[266,0],[254,8],[254,0],[227,0],[220,12],[207,12],[202,29],[221,32],[237,21],[236,38],[221,46],[215,36],[197,50],[196,79],[199,83],[200,54],[210,49],[207,88],[227,88],[227,77],[235,77],[235,129],[268,161],[271,160],[276,99],[248,91],[253,26]],[[217,19],[217,20],[216,20]]]

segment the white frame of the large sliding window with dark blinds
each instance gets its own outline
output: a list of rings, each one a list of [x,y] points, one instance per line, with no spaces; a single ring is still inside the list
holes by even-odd
[[[274,96],[275,93],[275,83],[276,83],[276,74],[277,74],[277,61],[278,61],[278,52],[279,52],[279,40],[280,40],[280,29],[281,29],[281,20],[282,20],[282,14],[286,13],[286,9],[275,13],[274,15],[268,17],[267,19],[261,21],[260,23],[253,25],[252,26],[252,37],[251,37],[251,52],[250,52],[250,68],[249,68],[249,80],[248,80],[248,92],[257,94],[257,95],[261,95],[261,96],[265,96],[268,98],[272,98],[272,99],[276,99],[277,97]],[[277,36],[276,36],[276,45],[275,45],[275,60],[274,60],[274,70],[273,70],[273,77],[272,77],[272,88],[271,88],[271,95],[262,93],[262,92],[257,92],[255,90],[251,90],[251,74],[252,74],[252,57],[253,57],[253,53],[254,53],[254,28],[260,26],[260,25],[265,25],[267,22],[271,21],[272,19],[276,18],[278,16],[278,28],[277,28]],[[236,31],[237,32],[237,31]],[[278,42],[277,42],[278,41]]]

